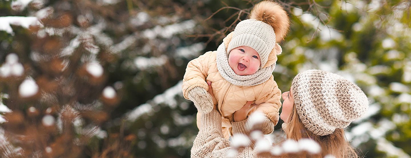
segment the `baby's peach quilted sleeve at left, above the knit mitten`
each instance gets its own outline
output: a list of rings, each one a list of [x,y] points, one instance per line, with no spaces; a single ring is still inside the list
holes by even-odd
[[[212,51],[204,53],[187,64],[182,80],[182,94],[184,98],[189,99],[188,92],[194,87],[202,87],[208,91],[208,85],[205,79],[208,76],[207,71],[211,53]]]

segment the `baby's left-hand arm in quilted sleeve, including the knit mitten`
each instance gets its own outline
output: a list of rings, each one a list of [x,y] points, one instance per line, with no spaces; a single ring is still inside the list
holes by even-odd
[[[207,52],[190,61],[187,64],[183,78],[182,93],[184,98],[193,101],[201,113],[208,113],[213,107],[212,98],[207,93],[208,85],[205,82],[208,76],[207,71],[211,53]]]

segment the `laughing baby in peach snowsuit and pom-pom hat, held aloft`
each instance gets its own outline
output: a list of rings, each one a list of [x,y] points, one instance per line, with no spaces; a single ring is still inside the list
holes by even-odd
[[[223,117],[225,138],[231,136],[233,113],[247,101],[257,104],[256,110],[266,116],[261,131],[272,133],[281,107],[281,91],[272,71],[277,55],[282,52],[278,42],[284,39],[289,26],[286,11],[279,4],[260,2],[252,9],[250,19],[238,23],[217,51],[209,51],[188,63],[182,92],[199,110],[198,128],[201,128],[201,113],[213,109],[212,98],[207,93],[206,81],[210,81]]]

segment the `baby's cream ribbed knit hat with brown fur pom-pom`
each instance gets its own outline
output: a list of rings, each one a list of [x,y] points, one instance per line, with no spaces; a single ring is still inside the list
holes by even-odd
[[[284,39],[289,21],[286,11],[278,3],[260,2],[252,9],[250,19],[237,24],[227,52],[239,46],[249,46],[259,53],[262,68],[275,43]]]

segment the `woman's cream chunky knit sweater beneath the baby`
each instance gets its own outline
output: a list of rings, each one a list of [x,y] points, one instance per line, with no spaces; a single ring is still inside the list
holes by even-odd
[[[247,119],[246,119],[247,120]],[[233,133],[246,133],[245,122],[233,122]],[[201,129],[191,148],[192,158],[224,158],[231,149],[231,142],[225,139],[221,130],[221,114],[213,109],[210,113],[201,116]],[[250,147],[238,149],[236,158],[256,158],[256,152]]]

